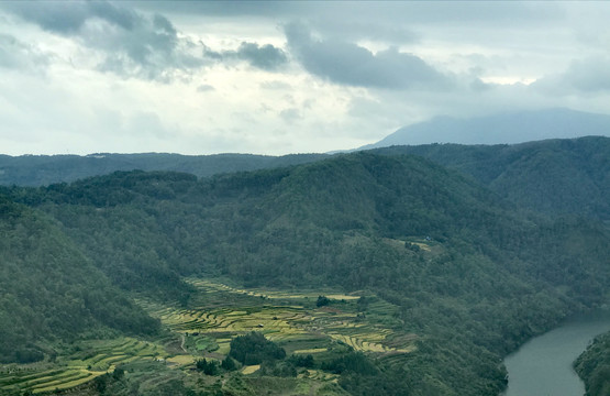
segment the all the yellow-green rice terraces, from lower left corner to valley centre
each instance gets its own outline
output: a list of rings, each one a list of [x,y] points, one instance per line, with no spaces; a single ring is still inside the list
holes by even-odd
[[[414,334],[392,331],[398,324],[392,315],[396,307],[370,293],[245,289],[198,278],[188,283],[197,288],[188,308],[137,300],[160,320],[166,329],[162,337],[80,341],[60,349],[63,353],[53,361],[5,365],[0,372],[0,394],[64,389],[69,394],[70,388],[90,386],[96,377],[119,366],[127,367],[126,375],[135,375],[129,367],[137,364],[156,367],[156,382],[169,381],[177,373],[193,376],[198,360],[221,362],[235,337],[253,331],[284,348],[288,356],[309,355],[322,362],[359,351],[399,365],[415,349]],[[236,380],[223,383],[276,389],[279,381],[288,384],[279,386],[279,394],[344,394],[336,385],[339,376],[328,371],[301,369],[296,378],[268,377],[273,384],[266,384],[265,376],[257,374],[259,369],[259,364],[243,365],[231,374]]]

